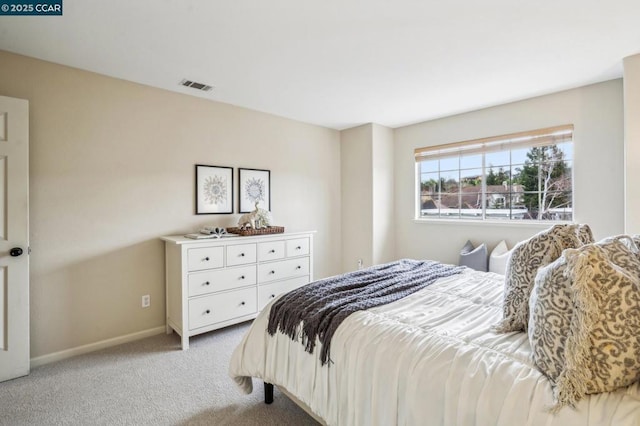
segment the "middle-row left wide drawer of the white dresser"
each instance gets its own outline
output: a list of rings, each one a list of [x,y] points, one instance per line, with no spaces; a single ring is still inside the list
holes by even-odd
[[[254,285],[256,265],[189,274],[189,297]]]

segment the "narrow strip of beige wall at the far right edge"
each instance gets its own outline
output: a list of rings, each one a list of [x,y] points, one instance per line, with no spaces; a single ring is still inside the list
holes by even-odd
[[[640,233],[640,55],[624,59],[625,232]]]

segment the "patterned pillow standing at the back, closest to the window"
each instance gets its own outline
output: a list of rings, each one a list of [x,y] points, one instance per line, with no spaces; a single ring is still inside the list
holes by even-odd
[[[529,296],[538,269],[560,257],[562,250],[582,246],[578,225],[554,225],[513,248],[504,279],[503,319],[493,327],[497,333],[526,331]]]

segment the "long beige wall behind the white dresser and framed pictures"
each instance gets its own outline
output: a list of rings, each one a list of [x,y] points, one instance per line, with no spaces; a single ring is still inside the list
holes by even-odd
[[[238,218],[194,214],[196,163],[270,169],[275,222],[318,231],[316,277],[340,271],[339,132],[6,52],[0,64],[0,94],[30,102],[32,357],[164,325],[158,237]]]

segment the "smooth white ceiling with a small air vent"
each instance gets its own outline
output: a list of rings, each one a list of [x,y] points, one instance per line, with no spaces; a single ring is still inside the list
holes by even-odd
[[[62,17],[0,17],[0,49],[335,129],[398,127],[621,77],[639,19],[638,0],[64,0]]]

